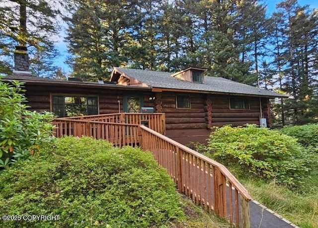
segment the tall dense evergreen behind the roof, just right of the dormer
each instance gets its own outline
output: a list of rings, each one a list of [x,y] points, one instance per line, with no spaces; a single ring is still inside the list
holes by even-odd
[[[240,4],[236,0],[198,1],[195,6],[201,31],[198,51],[209,75],[252,84],[255,77],[249,72],[250,62],[240,60],[247,47],[238,36],[238,23],[245,13]]]

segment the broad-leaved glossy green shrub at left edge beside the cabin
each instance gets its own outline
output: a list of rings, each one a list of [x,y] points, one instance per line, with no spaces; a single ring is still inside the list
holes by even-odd
[[[26,110],[22,85],[0,80],[0,167],[33,154],[52,134],[53,114]]]

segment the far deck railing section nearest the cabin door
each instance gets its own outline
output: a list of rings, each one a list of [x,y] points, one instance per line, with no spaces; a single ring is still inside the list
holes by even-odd
[[[60,118],[58,118],[60,119]],[[114,113],[90,116],[66,117],[63,119],[89,120],[111,123],[125,123],[145,125],[150,129],[165,135],[165,115],[164,113]]]

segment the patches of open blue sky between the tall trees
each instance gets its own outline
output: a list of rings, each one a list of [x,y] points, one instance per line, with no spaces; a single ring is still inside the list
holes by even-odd
[[[282,0],[265,0],[267,4],[267,14],[270,15],[275,10],[276,4],[281,1]],[[318,9],[318,0],[298,0],[298,3],[300,5],[308,4],[310,8]],[[64,72],[69,73],[72,71],[72,69],[67,64],[64,63],[68,56],[67,46],[63,38],[63,36],[65,36],[65,32],[62,31],[60,33],[60,36],[61,36],[59,39],[60,41],[57,43],[56,47],[60,51],[61,56],[57,58],[57,60],[55,61],[55,64],[59,67],[62,67],[62,70],[64,70]]]

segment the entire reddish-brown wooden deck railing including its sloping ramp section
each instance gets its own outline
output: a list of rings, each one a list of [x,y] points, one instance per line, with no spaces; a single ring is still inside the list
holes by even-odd
[[[154,154],[175,181],[178,191],[194,203],[228,220],[249,228],[251,197],[222,164],[164,136],[164,114],[118,113],[57,118],[56,137],[91,136],[114,146],[140,146]],[[144,125],[143,125],[144,124]]]

